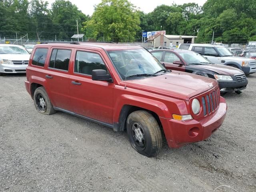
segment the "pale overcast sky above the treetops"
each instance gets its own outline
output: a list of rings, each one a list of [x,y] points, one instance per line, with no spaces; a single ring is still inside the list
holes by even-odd
[[[47,0],[49,5],[52,4],[55,0]],[[79,10],[81,10],[86,15],[92,15],[94,12],[94,5],[97,5],[101,2],[101,0],[69,0],[72,4],[75,4]],[[176,4],[184,4],[184,3],[197,3],[202,6],[206,0],[130,0],[132,4],[136,7],[139,7],[145,13],[152,12],[154,8],[158,5],[172,5],[172,3]]]

